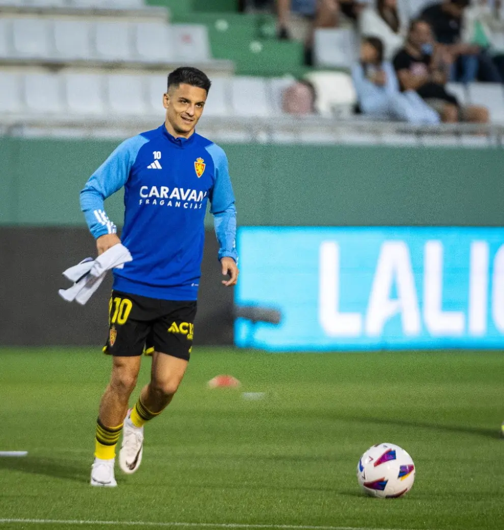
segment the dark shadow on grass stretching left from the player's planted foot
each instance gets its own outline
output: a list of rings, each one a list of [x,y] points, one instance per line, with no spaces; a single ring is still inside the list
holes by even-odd
[[[91,466],[77,465],[48,457],[0,458],[0,470],[21,471],[33,475],[52,476],[56,479],[87,483]]]

